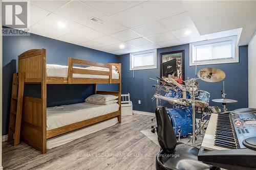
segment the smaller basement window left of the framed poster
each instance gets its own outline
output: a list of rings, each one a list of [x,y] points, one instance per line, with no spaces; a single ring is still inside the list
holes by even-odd
[[[130,70],[157,68],[157,50],[130,53]]]

